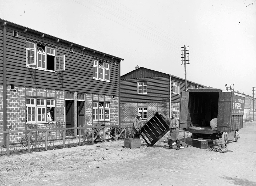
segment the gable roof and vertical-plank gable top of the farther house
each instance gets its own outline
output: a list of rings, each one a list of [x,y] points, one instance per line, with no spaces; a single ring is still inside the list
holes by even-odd
[[[177,79],[181,79],[181,80],[184,80],[183,78],[180,78],[178,76],[175,76],[175,75],[171,75],[171,74],[166,74],[166,73],[163,73],[163,72],[159,72],[159,71],[156,71],[156,70],[152,70],[152,69],[148,69],[148,68],[145,68],[145,67],[138,67],[137,69],[133,70],[133,71],[130,71],[124,75],[121,76],[121,79],[135,79],[135,78],[149,78],[149,77],[164,77],[164,76],[171,76],[171,77],[174,77],[174,78],[177,78]],[[193,84],[198,84],[198,85],[201,85],[203,87],[207,87],[205,85],[202,85],[202,84],[199,84],[199,83],[195,83],[193,81],[189,81],[187,80],[187,82],[189,83],[193,83]]]

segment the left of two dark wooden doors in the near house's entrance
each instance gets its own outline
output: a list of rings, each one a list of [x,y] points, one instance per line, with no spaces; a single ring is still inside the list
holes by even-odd
[[[74,101],[66,100],[66,128],[74,127]],[[66,136],[74,136],[74,130],[66,130]]]

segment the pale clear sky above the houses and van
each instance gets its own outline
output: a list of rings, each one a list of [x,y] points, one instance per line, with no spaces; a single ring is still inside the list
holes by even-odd
[[[135,66],[252,96],[256,0],[0,0],[0,18],[123,58]]]

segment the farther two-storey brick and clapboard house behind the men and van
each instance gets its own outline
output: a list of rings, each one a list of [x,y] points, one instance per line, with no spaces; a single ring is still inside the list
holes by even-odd
[[[139,112],[145,123],[156,111],[168,117],[175,113],[179,118],[185,79],[144,67],[135,68],[121,76],[121,121],[131,121]],[[187,81],[187,88],[206,86]]]

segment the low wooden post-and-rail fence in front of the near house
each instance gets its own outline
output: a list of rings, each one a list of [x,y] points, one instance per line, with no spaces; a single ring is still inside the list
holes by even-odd
[[[31,147],[31,139],[30,139],[30,134],[32,132],[43,132],[44,131],[44,148],[45,150],[48,149],[48,131],[62,131],[63,132],[63,147],[65,147],[66,145],[66,130],[70,131],[70,130],[78,130],[78,145],[81,145],[81,129],[83,130],[83,134],[85,135],[85,132],[91,132],[91,141],[90,143],[94,143],[94,141],[96,139],[99,139],[101,141],[106,141],[106,136],[110,136],[111,138],[113,138],[114,140],[117,140],[119,137],[123,137],[123,138],[127,138],[127,129],[129,127],[131,127],[132,124],[124,124],[124,125],[105,125],[105,126],[79,126],[79,127],[71,127],[71,128],[48,128],[47,126],[45,128],[42,129],[25,129],[25,130],[11,130],[11,129],[7,129],[6,131],[0,131],[0,134],[6,134],[3,136],[6,136],[6,153],[7,155],[10,154],[10,133],[23,133],[25,136],[27,136],[26,139],[26,146],[27,146],[27,152],[30,152],[30,147]],[[106,128],[109,128],[106,131]],[[114,132],[112,132],[112,135],[110,134],[111,131],[114,130]],[[130,131],[131,132],[131,129]],[[113,136],[114,133],[114,136]],[[123,134],[124,133],[124,134]],[[23,144],[22,144],[23,145]]]

